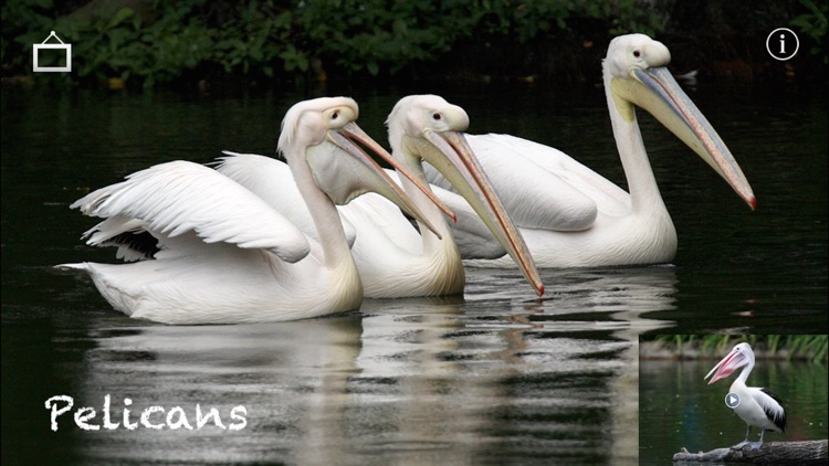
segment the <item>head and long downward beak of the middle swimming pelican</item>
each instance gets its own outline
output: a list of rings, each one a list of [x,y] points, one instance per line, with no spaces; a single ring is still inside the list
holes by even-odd
[[[440,171],[521,266],[536,293],[544,294],[544,285],[523,236],[461,133],[469,127],[466,112],[437,95],[412,95],[395,105],[386,124],[395,157],[422,180],[426,180],[422,160]]]

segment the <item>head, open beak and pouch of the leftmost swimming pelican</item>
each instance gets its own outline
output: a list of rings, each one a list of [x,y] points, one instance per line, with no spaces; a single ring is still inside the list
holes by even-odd
[[[340,205],[368,191],[377,192],[437,231],[402,189],[355,142],[412,179],[417,188],[431,194],[430,199],[439,208],[447,212],[449,208],[357,126],[358,116],[357,103],[348,97],[321,97],[291,107],[282,121],[279,148],[294,170],[294,177],[297,170],[304,171],[300,167],[308,167],[316,186]]]

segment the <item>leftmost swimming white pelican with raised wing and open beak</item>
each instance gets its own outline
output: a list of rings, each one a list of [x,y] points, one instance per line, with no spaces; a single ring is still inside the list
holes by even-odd
[[[147,250],[137,246],[149,233],[151,258],[57,267],[88,273],[106,300],[126,315],[166,324],[292,320],[359,308],[363,285],[335,202],[370,189],[429,223],[350,140],[406,171],[354,123],[357,115],[350,98],[318,98],[294,105],[283,120],[279,147],[293,181],[282,181],[298,190],[318,244],[230,178],[174,161],[71,205],[105,219],[86,233],[88,244],[117,245],[126,260],[147,258]],[[337,170],[337,178],[327,177],[328,170]]]

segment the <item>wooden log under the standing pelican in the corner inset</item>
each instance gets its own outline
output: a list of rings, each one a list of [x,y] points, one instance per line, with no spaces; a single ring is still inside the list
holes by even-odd
[[[766,442],[758,449],[749,445],[741,448],[716,448],[690,453],[684,447],[673,455],[674,463],[749,463],[756,465],[826,465],[829,441]]]

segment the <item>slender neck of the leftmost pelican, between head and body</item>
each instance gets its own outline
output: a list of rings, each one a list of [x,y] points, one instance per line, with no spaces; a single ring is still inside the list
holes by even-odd
[[[296,160],[294,163],[288,163],[294,176],[294,182],[296,182],[296,188],[308,206],[308,212],[319,237],[319,245],[324,255],[321,262],[327,267],[336,267],[344,262],[354,263],[336,205],[317,187],[305,158],[300,155],[291,159]]]

